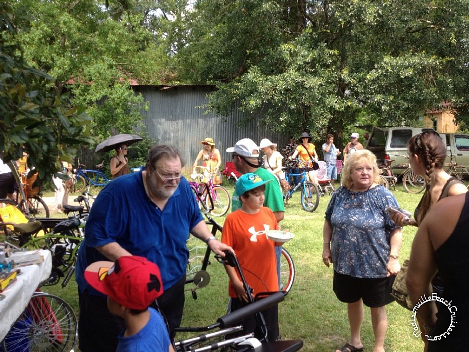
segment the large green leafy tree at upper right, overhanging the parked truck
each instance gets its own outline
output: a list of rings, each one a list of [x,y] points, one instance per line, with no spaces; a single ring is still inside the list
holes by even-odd
[[[467,120],[468,10],[466,0],[199,1],[180,55],[192,80],[216,81],[213,111],[239,105],[289,134],[340,135],[363,114],[413,124],[447,103]]]

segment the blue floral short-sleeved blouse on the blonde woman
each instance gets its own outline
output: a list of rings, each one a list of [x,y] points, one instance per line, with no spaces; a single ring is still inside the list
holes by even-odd
[[[394,195],[378,185],[352,192],[340,187],[326,210],[332,224],[331,256],[334,270],[360,278],[386,277],[390,234],[397,226],[386,208],[399,207]]]

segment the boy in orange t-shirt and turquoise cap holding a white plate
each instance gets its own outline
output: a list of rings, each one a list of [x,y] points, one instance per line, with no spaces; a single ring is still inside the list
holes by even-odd
[[[242,206],[227,216],[222,231],[222,243],[235,250],[247,285],[252,288],[252,297],[259,292],[279,290],[274,246],[281,243],[270,240],[266,234],[268,230],[277,230],[278,225],[272,210],[263,206],[265,184],[271,181],[263,181],[253,173],[238,179],[235,189],[236,194],[240,194]],[[233,312],[248,305],[249,299],[236,269],[229,265],[225,265],[225,269],[230,278],[228,291],[230,311]],[[275,341],[280,335],[278,306],[268,308],[262,314],[267,324],[268,339]],[[243,332],[254,331],[255,337],[264,337],[254,316],[247,318],[242,325]]]

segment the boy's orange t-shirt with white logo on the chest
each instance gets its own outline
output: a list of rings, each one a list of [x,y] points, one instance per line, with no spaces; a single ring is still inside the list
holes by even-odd
[[[238,209],[226,217],[223,225],[222,242],[235,250],[244,278],[254,289],[254,295],[279,290],[275,242],[266,234],[267,230],[277,229],[274,213],[267,207],[260,208],[256,214],[246,214]],[[231,280],[228,291],[230,297],[238,297]]]

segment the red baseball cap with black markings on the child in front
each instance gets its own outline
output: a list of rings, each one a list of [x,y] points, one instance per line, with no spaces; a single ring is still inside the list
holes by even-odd
[[[99,261],[85,270],[86,281],[124,307],[147,308],[163,294],[160,268],[138,256],[120,257],[116,262]]]

